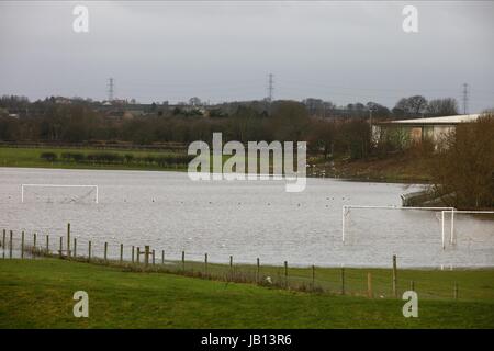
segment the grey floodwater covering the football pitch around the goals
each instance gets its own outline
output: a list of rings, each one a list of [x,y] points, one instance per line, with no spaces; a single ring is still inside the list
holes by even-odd
[[[25,188],[21,184],[91,184],[90,188]],[[440,212],[352,208],[343,205],[401,205],[400,195],[417,185],[308,179],[305,191],[287,193],[283,181],[191,181],[184,172],[100,171],[0,168],[0,229],[20,233],[37,245],[49,235],[58,248],[67,223],[78,239],[78,254],[88,240],[93,256],[110,257],[124,244],[149,245],[160,258],[324,267],[494,267],[494,220],[454,217],[454,244],[446,220],[441,245]],[[449,215],[447,215],[449,219]],[[0,249],[1,252],[1,249]],[[3,252],[4,253],[4,252]],[[2,253],[0,253],[1,256]]]

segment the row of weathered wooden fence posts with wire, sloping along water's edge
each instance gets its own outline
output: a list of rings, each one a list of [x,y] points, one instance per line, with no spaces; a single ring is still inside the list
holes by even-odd
[[[316,274],[317,268],[314,264],[306,268],[289,268],[288,261],[283,261],[283,265],[281,267],[261,265],[259,258],[251,264],[235,263],[233,256],[229,256],[229,260],[225,260],[224,263],[211,263],[207,252],[202,253],[201,259],[194,260],[195,254],[190,254],[184,250],[181,251],[181,257],[175,260],[170,259],[170,253],[161,250],[161,259],[157,261],[156,253],[159,250],[157,251],[149,246],[125,246],[123,242],[110,246],[108,241],[99,242],[98,248],[100,254],[98,254],[98,251],[94,251],[92,240],[71,237],[70,224],[67,225],[66,236],[59,236],[56,248],[53,245],[50,246],[53,236],[50,237],[49,234],[45,235],[44,241],[37,240],[36,233],[33,233],[31,236],[22,231],[20,238],[18,236],[14,236],[12,230],[2,230],[0,246],[2,248],[3,259],[7,257],[9,259],[14,258],[13,253],[15,252],[21,259],[25,257],[60,258],[114,265],[130,271],[156,271],[209,280],[255,283],[263,286],[313,293],[350,294],[368,296],[369,298],[373,298],[374,296],[398,297],[400,286],[396,256],[392,257],[392,261],[390,260],[392,263],[392,275],[390,275],[389,284],[379,285],[373,282],[372,273],[364,269],[352,271],[341,267],[339,274],[336,269],[322,269],[319,271],[321,273]],[[32,240],[27,240],[30,237]],[[86,251],[85,248],[87,248]],[[113,249],[114,254],[109,254],[111,253],[111,249]],[[193,258],[189,259],[190,256]],[[416,280],[411,281],[412,290],[415,290],[415,283]],[[458,298],[459,287],[457,282],[451,286],[453,288],[450,297]],[[462,292],[468,292],[468,290],[462,290]],[[434,296],[433,293],[429,293],[429,295]]]

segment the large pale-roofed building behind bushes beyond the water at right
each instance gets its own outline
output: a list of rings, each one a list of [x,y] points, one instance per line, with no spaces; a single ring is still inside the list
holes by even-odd
[[[442,137],[453,132],[458,124],[473,123],[479,116],[480,114],[463,114],[379,122],[372,125],[372,139],[374,143],[388,140],[402,147],[427,139],[437,147]]]

